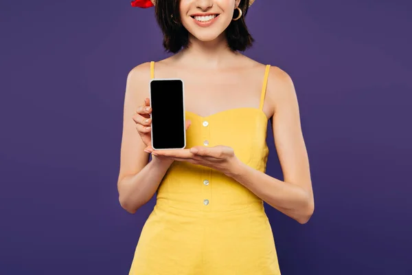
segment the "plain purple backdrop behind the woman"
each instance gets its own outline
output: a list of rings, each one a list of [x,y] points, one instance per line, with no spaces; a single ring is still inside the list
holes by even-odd
[[[292,76],[316,209],[266,208],[283,275],[412,274],[411,1],[258,0],[251,58]],[[126,76],[167,56],[129,1],[0,3],[0,274],[127,274],[151,201],[117,200]],[[269,129],[270,130],[270,129]],[[271,149],[267,173],[282,179]]]

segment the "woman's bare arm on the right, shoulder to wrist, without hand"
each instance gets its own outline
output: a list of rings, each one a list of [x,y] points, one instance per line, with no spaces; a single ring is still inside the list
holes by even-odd
[[[266,102],[275,107],[272,129],[284,181],[239,161],[231,165],[227,175],[273,208],[303,224],[314,212],[308,153],[293,81],[278,67],[271,67]]]

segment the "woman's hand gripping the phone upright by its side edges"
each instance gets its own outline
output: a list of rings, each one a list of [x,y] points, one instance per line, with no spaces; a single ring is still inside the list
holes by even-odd
[[[154,149],[152,148],[152,119],[150,118],[150,113],[152,108],[150,107],[150,99],[146,98],[144,104],[137,107],[136,114],[133,115],[133,120],[136,123],[137,133],[139,133],[141,140],[146,145],[144,151],[146,153],[152,153]],[[185,129],[189,128],[190,120],[186,120]]]

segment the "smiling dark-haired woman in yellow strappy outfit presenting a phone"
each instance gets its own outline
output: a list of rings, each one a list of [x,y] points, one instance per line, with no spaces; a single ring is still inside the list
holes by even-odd
[[[174,55],[138,65],[126,84],[119,201],[135,213],[157,191],[131,275],[280,274],[262,201],[299,223],[312,215],[292,80],[239,52],[253,42],[244,23],[250,3],[153,0],[163,45]],[[155,77],[184,80],[185,149],[150,146],[148,82]],[[264,173],[269,119],[284,181]]]

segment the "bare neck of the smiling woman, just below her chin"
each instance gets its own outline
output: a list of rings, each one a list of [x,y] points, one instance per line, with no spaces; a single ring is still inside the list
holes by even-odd
[[[182,63],[190,63],[191,67],[214,69],[230,64],[238,55],[227,45],[225,33],[213,41],[200,41],[189,34],[189,47],[176,54],[176,57]]]

